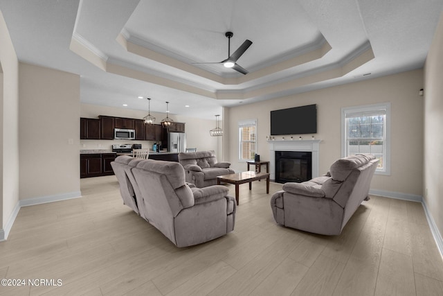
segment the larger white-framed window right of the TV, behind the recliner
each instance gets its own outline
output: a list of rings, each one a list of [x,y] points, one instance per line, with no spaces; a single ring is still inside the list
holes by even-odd
[[[390,174],[390,103],[342,109],[342,155],[371,153],[380,162],[376,173]]]

